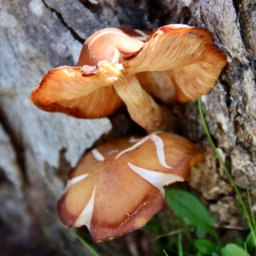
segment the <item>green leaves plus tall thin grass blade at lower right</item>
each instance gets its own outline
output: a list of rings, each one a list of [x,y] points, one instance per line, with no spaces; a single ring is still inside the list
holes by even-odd
[[[250,229],[250,234],[248,235],[246,241],[239,238],[234,241],[234,243],[223,244],[220,237],[214,230],[214,224],[216,220],[207,212],[204,205],[193,195],[186,191],[180,189],[167,189],[166,190],[166,201],[170,208],[175,212],[180,221],[182,221],[183,230],[182,233],[186,235],[188,243],[186,248],[189,247],[189,253],[193,253],[196,256],[211,255],[211,256],[249,256],[256,255],[256,226],[255,218],[252,210],[252,202],[250,199],[250,193],[247,191],[248,204],[250,206],[250,212],[246,209],[245,203],[237,188],[232,176],[228,172],[228,168],[225,162],[221,158],[214,142],[212,141],[211,134],[207,127],[205,121],[202,102],[198,99],[198,109],[200,112],[200,117],[202,119],[202,124],[204,125],[205,133],[209,139],[212,149],[214,150],[216,157],[220,161],[221,166],[228,177],[228,180],[237,196],[237,204],[243,213],[244,218],[248,223],[248,228]],[[189,227],[189,232],[188,232]],[[193,230],[195,228],[195,230]],[[177,238],[177,250],[178,255],[191,255],[189,253],[182,253],[181,244],[181,232],[179,232],[179,237]],[[168,255],[164,251],[165,255]],[[249,254],[250,253],[250,254]]]

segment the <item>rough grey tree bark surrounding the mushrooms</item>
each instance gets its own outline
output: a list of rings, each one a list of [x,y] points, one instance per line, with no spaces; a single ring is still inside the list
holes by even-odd
[[[0,239],[4,241],[0,242],[1,252],[8,255],[17,248],[20,255],[33,255],[44,240],[40,238],[42,227],[54,234],[51,241],[58,248],[65,247],[67,237],[72,239],[45,211],[55,211],[68,169],[102,134],[110,131],[111,123],[108,118],[78,120],[45,113],[31,104],[29,93],[51,68],[75,65],[89,35],[119,24],[152,30],[183,23],[211,31],[216,44],[227,54],[228,65],[216,86],[202,97],[206,119],[237,186],[244,189],[247,184],[255,195],[253,0],[1,0],[0,17],[0,236],[4,237]],[[243,228],[234,197],[230,196],[232,188],[202,129],[196,102],[174,106],[172,113],[175,131],[199,145],[207,157],[204,165],[193,170],[189,185],[205,199],[216,200],[209,206],[218,216],[218,225]],[[124,116],[113,121],[115,128],[126,125],[122,134],[131,125],[127,117],[124,122]],[[229,218],[231,213],[236,218]],[[74,250],[83,249],[72,246],[65,253]],[[49,252],[44,248],[42,255]]]

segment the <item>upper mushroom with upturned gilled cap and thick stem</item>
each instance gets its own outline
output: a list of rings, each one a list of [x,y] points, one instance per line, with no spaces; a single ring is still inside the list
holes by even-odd
[[[211,90],[226,63],[204,28],[167,25],[149,36],[102,29],[84,43],[77,67],[50,70],[30,99],[45,111],[78,118],[109,116],[125,102],[131,118],[150,133],[166,124],[150,94],[165,103],[196,99]]]

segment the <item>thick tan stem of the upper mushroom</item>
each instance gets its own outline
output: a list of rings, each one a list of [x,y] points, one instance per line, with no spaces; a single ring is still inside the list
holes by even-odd
[[[164,109],[148,95],[135,76],[124,76],[114,84],[115,90],[124,100],[132,120],[148,134],[163,130],[166,124]]]

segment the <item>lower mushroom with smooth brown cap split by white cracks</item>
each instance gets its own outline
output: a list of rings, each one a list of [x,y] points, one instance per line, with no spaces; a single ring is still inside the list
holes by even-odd
[[[136,230],[163,208],[163,186],[188,180],[198,162],[204,162],[200,149],[168,132],[104,143],[68,173],[61,221],[86,225],[95,242]]]

